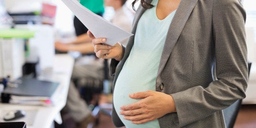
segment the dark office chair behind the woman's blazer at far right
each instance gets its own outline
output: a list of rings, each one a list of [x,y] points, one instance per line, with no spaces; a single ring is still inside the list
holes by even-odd
[[[248,76],[250,73],[251,65],[252,63],[248,62]],[[239,109],[241,108],[241,104],[242,104],[242,99],[238,99],[234,104],[222,110],[223,116],[225,119],[226,128],[234,127],[236,117],[238,115]]]

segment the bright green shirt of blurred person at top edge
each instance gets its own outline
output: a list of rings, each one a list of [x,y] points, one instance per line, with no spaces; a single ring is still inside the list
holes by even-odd
[[[104,13],[103,0],[80,0],[80,4],[93,13]]]

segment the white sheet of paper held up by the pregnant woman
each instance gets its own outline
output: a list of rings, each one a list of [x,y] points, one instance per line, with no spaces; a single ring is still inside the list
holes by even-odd
[[[113,46],[117,42],[133,35],[88,10],[77,0],[62,0],[62,2],[64,2],[75,16],[93,33],[95,38],[106,38],[106,44],[108,45]]]

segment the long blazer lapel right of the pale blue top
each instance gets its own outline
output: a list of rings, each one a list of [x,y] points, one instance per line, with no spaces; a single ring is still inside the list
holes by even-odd
[[[194,9],[197,1],[198,0],[181,0],[168,29],[157,76],[163,71],[163,68],[166,65],[172,49],[175,46],[175,43],[177,42],[179,36],[181,35],[181,31],[183,30],[190,16],[190,13]]]

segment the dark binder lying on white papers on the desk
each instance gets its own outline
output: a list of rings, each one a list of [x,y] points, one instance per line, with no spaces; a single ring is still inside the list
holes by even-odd
[[[51,98],[58,86],[55,82],[20,78],[10,82],[3,93],[11,95],[9,103],[48,106],[53,104]]]

